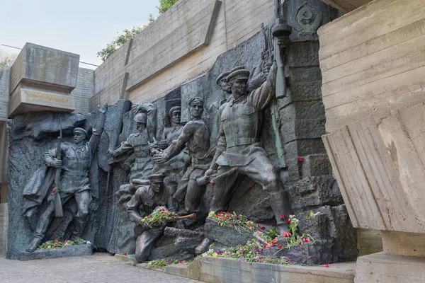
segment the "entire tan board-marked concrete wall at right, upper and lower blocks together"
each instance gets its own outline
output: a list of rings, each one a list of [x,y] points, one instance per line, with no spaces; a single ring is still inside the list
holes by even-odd
[[[425,233],[425,2],[370,2],[319,30],[324,142],[353,226]]]

